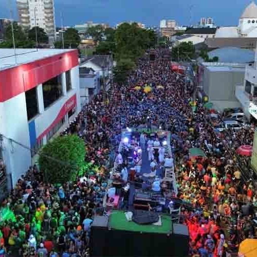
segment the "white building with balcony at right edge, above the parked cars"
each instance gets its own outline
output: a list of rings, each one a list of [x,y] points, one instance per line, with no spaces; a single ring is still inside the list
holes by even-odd
[[[257,120],[257,51],[254,65],[247,66],[244,81],[235,90],[235,97],[240,102],[245,115],[250,120]]]

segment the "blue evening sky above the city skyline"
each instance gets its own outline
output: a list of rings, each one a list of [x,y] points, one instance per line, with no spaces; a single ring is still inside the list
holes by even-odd
[[[0,17],[9,17],[9,0],[0,0]],[[15,0],[10,0],[14,16]],[[190,24],[200,17],[213,17],[217,25],[234,25],[251,0],[55,0],[56,23],[64,25],[82,24],[86,21],[116,25],[122,21],[138,21],[146,25],[158,25],[162,19],[174,19],[180,25]]]

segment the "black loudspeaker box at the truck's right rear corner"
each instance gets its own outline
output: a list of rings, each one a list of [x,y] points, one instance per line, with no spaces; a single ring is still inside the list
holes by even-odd
[[[173,256],[189,256],[189,231],[186,225],[173,223],[172,244],[176,246]]]

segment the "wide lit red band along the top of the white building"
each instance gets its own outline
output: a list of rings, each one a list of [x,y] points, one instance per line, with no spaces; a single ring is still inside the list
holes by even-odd
[[[5,102],[79,64],[78,50],[0,71],[0,102]]]

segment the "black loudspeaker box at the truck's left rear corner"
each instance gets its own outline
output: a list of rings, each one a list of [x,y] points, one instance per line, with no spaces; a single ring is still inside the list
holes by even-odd
[[[104,256],[107,237],[108,217],[96,216],[91,226],[91,235],[89,242],[90,256]]]

